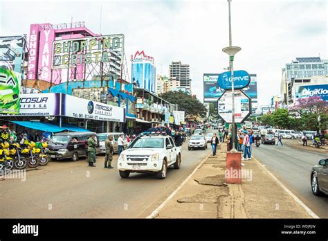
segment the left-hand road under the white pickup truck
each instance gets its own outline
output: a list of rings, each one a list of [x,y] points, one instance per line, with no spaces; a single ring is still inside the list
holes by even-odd
[[[51,161],[26,172],[26,181],[0,178],[0,217],[147,217],[209,153],[210,145],[188,151],[184,143],[181,169],[169,168],[163,180],[149,174],[121,179],[117,168],[104,168],[104,156],[96,168],[85,159]]]

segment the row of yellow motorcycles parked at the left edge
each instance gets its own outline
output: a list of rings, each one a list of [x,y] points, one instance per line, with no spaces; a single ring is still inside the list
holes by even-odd
[[[36,146],[37,145],[37,146]],[[0,171],[11,170],[12,168],[24,169],[46,166],[51,158],[48,155],[48,143],[33,141],[25,145],[19,143],[9,144],[7,141],[1,142],[0,146]]]

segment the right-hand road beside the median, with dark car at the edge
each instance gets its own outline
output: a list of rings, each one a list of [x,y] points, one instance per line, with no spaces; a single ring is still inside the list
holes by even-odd
[[[282,140],[286,143],[292,140]],[[294,140],[295,141],[295,140]],[[277,179],[304,202],[319,217],[328,217],[328,197],[317,197],[311,191],[311,168],[328,153],[291,148],[286,145],[263,145],[253,147],[253,157],[266,166]]]

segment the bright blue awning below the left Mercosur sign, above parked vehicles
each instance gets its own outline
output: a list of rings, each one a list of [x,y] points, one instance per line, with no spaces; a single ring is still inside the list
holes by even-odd
[[[49,123],[41,123],[41,122],[36,122],[36,121],[12,121],[12,123],[24,126],[29,129],[40,130],[42,132],[53,132],[53,133],[64,132],[64,131],[90,132],[89,130],[85,130],[83,128],[77,127],[75,125],[70,125],[70,124],[64,124],[62,127],[59,127],[58,125],[53,125],[53,124],[49,124]]]

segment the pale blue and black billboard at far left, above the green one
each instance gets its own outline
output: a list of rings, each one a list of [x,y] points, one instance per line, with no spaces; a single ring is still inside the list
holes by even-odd
[[[0,37],[0,68],[21,72],[24,36]]]

